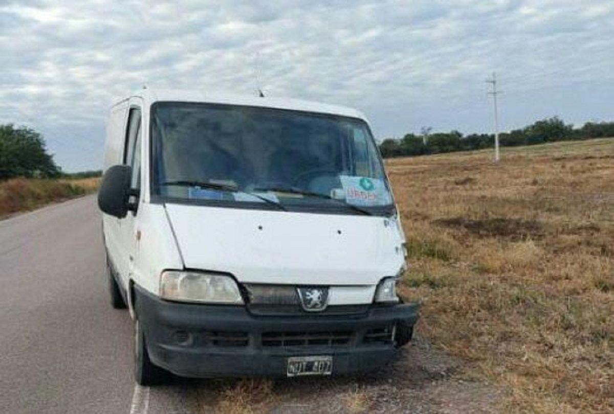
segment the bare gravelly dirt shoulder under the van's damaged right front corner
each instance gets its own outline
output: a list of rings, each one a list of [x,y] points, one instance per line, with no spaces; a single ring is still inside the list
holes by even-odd
[[[456,377],[462,363],[416,339],[403,348],[392,366],[360,377],[298,385],[283,381],[272,413],[498,413],[501,393],[483,382]],[[341,396],[341,398],[340,398]]]

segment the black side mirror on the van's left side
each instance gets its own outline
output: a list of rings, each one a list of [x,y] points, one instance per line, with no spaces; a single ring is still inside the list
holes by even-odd
[[[130,189],[132,167],[116,165],[109,167],[103,175],[98,191],[98,207],[104,213],[124,218],[129,210],[136,211],[136,204],[130,202],[130,196],[138,196]]]

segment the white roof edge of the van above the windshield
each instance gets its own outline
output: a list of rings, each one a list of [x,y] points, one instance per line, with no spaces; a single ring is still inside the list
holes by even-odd
[[[360,118],[367,120],[362,112],[349,107],[340,105],[329,105],[321,102],[303,101],[302,99],[273,98],[265,96],[260,98],[254,94],[239,95],[220,92],[200,92],[187,90],[168,90],[144,88],[131,94],[144,99],[146,105],[154,102],[174,101],[174,102],[206,102],[211,104],[244,105],[263,108],[300,110],[305,112],[329,113],[332,115],[342,115],[344,117]],[[127,98],[126,98],[127,99]],[[125,99],[122,99],[123,102]],[[119,102],[118,102],[119,103]]]

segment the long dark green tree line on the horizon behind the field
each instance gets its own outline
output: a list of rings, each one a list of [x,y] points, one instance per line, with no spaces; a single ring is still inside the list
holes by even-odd
[[[502,147],[536,145],[564,140],[614,137],[614,122],[587,122],[581,128],[573,128],[558,117],[546,118],[521,129],[499,134]],[[406,134],[401,139],[386,139],[379,144],[384,158],[438,154],[453,151],[471,151],[492,148],[494,134],[470,134],[459,131],[437,132],[434,134]]]

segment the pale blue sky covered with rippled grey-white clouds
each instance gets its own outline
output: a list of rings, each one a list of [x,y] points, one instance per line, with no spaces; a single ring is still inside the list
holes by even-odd
[[[150,87],[350,105],[378,140],[614,120],[612,0],[0,0],[0,123],[101,166],[115,98]]]

